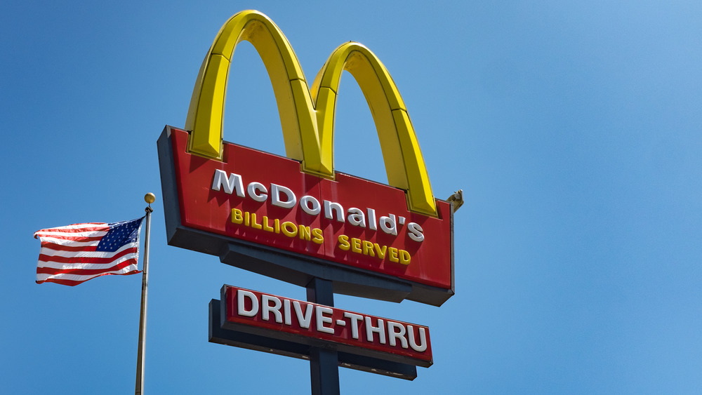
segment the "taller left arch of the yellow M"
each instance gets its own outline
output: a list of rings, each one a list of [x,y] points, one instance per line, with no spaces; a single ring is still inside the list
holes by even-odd
[[[242,11],[227,20],[202,62],[185,121],[185,128],[192,130],[190,152],[221,159],[227,77],[241,41],[256,48],[270,77],[286,155],[302,161],[308,173],[333,174],[319,160],[317,120],[300,62],[280,29],[258,11]]]

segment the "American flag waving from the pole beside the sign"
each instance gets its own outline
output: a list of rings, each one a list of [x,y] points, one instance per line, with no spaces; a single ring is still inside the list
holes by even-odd
[[[144,217],[41,229],[37,283],[79,283],[106,274],[137,274],[139,232]]]

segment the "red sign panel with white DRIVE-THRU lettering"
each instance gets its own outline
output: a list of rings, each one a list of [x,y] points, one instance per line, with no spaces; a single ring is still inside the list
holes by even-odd
[[[233,286],[225,286],[222,297],[223,328],[309,344],[331,342],[341,351],[416,366],[433,363],[426,326]]]

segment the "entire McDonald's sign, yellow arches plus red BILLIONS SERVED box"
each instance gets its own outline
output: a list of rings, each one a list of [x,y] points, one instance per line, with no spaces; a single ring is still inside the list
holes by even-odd
[[[223,141],[242,40],[270,76],[285,157]],[[343,71],[371,109],[389,185],[333,167]],[[169,244],[300,286],[329,279],[348,295],[435,305],[453,295],[453,206],[433,196],[402,97],[365,46],[336,48],[310,87],[280,29],[257,11],[238,13],[202,63],[185,128],[166,126],[158,147]]]

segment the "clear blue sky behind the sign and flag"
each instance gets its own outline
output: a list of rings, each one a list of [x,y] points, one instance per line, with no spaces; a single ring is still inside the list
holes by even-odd
[[[0,6],[0,392],[133,390],[141,276],[34,283],[38,229],[143,215],[154,192],[146,394],[308,394],[309,364],[211,344],[224,283],[303,288],[166,245],[156,140],[183,127],[214,36],[247,8],[308,80],[359,41],[406,102],[437,198],[456,189],[456,295],[442,307],[336,297],[429,326],[413,382],[340,369],[342,393],[702,393],[699,1],[34,1]],[[385,182],[344,74],[336,168]],[[225,139],[283,154],[248,43]],[[359,159],[362,159],[359,161]]]

